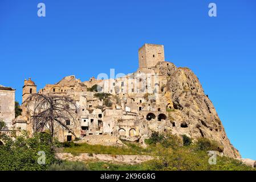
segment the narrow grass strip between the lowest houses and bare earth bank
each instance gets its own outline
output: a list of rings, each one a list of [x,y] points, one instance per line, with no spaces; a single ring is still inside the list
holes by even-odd
[[[88,143],[70,143],[63,148],[63,152],[70,152],[73,155],[79,155],[81,153],[89,154],[111,154],[111,155],[148,155],[150,151],[139,147],[137,144],[124,142],[127,145],[125,147],[113,147],[113,146],[101,146],[91,145]]]

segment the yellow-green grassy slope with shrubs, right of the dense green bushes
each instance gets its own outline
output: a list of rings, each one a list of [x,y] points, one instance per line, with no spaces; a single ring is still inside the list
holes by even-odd
[[[216,164],[209,164],[210,156],[207,151],[222,150],[217,142],[209,139],[201,138],[196,143],[192,143],[192,139],[185,135],[179,138],[171,134],[153,133],[145,142],[148,144],[147,148],[129,142],[125,143],[127,148],[71,143],[64,147],[63,151],[76,155],[86,152],[155,156],[154,160],[135,165],[86,162],[84,165],[88,170],[255,170],[239,160],[220,155],[217,155]]]

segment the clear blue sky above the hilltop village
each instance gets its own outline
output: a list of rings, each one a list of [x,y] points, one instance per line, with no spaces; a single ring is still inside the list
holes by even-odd
[[[164,44],[166,60],[192,69],[231,143],[256,159],[256,1],[0,2],[0,84],[19,102],[25,78],[40,89],[68,75],[134,72],[144,43]]]

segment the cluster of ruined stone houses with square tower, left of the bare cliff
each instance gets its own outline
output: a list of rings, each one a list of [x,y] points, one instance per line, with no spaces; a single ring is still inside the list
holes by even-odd
[[[82,82],[75,76],[64,77],[56,84],[47,84],[39,94],[68,96],[78,105],[78,126],[68,119],[66,125],[75,132],[76,137],[88,135],[115,135],[123,139],[137,140],[143,135],[140,129],[145,121],[164,122],[167,120],[166,101],[160,100],[160,87],[166,84],[166,76],[161,75],[160,65],[167,67],[164,60],[164,46],[145,44],[139,49],[139,68],[135,73],[124,77],[98,80],[95,77]],[[100,87],[100,92],[91,90]],[[36,84],[29,78],[23,86],[22,102],[36,93]],[[97,94],[109,94],[111,98],[99,98]],[[106,104],[105,102],[107,102]],[[23,105],[22,115],[13,122],[15,129],[32,129],[31,113]],[[32,133],[32,131],[31,131]],[[60,141],[73,140],[69,131],[60,129],[56,136]]]

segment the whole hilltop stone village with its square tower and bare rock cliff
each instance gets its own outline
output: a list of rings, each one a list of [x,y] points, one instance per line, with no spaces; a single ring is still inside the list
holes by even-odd
[[[91,143],[121,144],[119,139],[124,139],[143,145],[153,131],[170,131],[217,140],[224,155],[240,157],[198,78],[190,69],[165,61],[162,45],[144,44],[139,49],[137,71],[119,78],[81,81],[67,76],[40,90],[29,78],[23,86],[22,115],[16,118],[15,90],[0,85],[0,118],[6,123],[6,133],[33,133],[34,110],[26,101],[36,93],[68,96],[78,106],[76,122],[68,118],[65,121],[70,130],[55,130],[61,142],[79,138]]]

